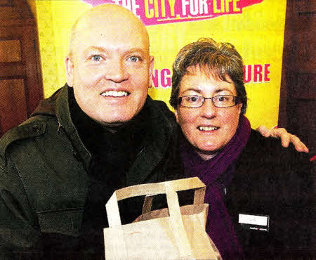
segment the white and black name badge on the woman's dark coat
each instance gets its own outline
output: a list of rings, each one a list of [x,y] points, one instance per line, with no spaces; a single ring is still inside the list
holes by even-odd
[[[269,216],[254,214],[239,214],[238,223],[246,229],[269,231]]]

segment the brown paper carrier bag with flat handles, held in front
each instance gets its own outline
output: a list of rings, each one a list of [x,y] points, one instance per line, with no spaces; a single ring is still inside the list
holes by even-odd
[[[195,190],[192,205],[179,206],[179,190]],[[152,196],[166,194],[168,209],[150,211]],[[143,214],[121,225],[117,201],[147,195]],[[104,229],[106,259],[220,259],[205,231],[209,205],[199,178],[141,184],[116,190],[106,204],[109,228]]]

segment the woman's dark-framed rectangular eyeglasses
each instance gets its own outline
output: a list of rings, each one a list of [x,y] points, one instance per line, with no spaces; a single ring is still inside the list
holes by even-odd
[[[181,96],[178,98],[178,104],[185,108],[200,108],[206,99],[211,99],[216,108],[229,108],[240,103],[240,98],[230,95],[218,95],[212,98],[204,96]]]

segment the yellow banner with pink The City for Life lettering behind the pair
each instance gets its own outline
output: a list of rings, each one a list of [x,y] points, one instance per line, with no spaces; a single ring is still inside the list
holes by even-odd
[[[155,57],[150,96],[169,104],[171,65],[200,37],[232,43],[244,58],[251,126],[277,125],[286,0],[37,0],[45,96],[65,84],[69,32],[84,11],[103,3],[129,8],[143,20]]]

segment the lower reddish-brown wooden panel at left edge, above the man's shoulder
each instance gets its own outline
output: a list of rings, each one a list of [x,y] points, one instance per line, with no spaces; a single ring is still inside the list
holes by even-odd
[[[24,80],[0,80],[0,93],[0,125],[4,133],[27,119]]]

